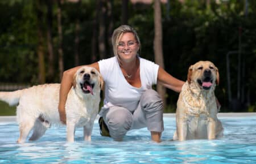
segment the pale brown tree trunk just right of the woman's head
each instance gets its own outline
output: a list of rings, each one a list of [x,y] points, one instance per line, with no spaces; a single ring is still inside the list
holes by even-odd
[[[154,38],[154,53],[155,62],[160,67],[164,68],[163,62],[163,48],[162,48],[162,17],[160,0],[155,0],[154,4],[154,21],[155,21],[155,38]],[[163,99],[164,107],[166,106],[166,88],[162,85],[157,85],[157,91]]]

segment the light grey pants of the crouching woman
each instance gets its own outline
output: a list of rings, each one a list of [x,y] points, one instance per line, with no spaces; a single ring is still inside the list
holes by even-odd
[[[122,140],[127,131],[147,127],[148,131],[162,132],[163,101],[155,90],[146,90],[137,109],[131,113],[121,106],[112,106],[101,113],[114,140]]]

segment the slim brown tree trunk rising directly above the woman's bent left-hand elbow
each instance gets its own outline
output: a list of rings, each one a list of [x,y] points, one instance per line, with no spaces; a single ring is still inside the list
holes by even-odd
[[[57,24],[58,24],[58,34],[59,34],[59,46],[58,46],[58,53],[59,53],[59,76],[60,81],[64,71],[64,64],[63,64],[63,34],[62,34],[62,25],[61,25],[61,0],[58,0],[57,5]]]

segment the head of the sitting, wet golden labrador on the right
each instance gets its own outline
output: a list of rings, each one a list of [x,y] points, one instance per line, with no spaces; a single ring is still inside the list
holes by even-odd
[[[214,83],[220,83],[218,68],[212,62],[200,61],[188,69],[188,83],[196,83],[200,88],[208,90]]]

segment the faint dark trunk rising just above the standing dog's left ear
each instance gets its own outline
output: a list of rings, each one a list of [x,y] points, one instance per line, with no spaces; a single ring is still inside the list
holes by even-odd
[[[75,66],[79,65],[79,43],[80,43],[80,38],[79,38],[79,33],[80,33],[80,5],[81,5],[81,0],[77,2],[77,18],[76,18],[76,28],[75,28]]]

